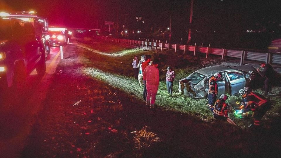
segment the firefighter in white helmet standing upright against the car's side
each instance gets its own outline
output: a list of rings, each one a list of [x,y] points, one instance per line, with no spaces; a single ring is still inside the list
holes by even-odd
[[[217,100],[217,80],[220,80],[222,78],[222,75],[220,73],[215,73],[210,79],[209,79],[209,90],[208,90],[208,106],[209,109],[211,109],[214,106],[215,101]]]

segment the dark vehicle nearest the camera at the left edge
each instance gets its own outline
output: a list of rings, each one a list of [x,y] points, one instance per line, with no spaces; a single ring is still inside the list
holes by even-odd
[[[0,18],[0,92],[24,92],[27,76],[46,71],[45,47],[30,22]],[[0,98],[1,99],[1,98]]]

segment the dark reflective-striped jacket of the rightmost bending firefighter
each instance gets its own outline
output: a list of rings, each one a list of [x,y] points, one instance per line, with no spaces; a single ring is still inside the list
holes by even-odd
[[[255,111],[256,108],[268,102],[264,96],[255,92],[250,92],[250,94],[247,95],[247,100],[252,111]]]

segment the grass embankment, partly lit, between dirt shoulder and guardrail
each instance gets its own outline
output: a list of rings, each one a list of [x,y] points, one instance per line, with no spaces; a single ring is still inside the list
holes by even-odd
[[[199,116],[200,118],[209,121],[212,120],[213,115],[206,106],[205,99],[193,99],[185,97],[178,92],[179,80],[185,78],[193,71],[205,67],[200,65],[200,57],[193,56],[178,56],[177,54],[167,51],[143,51],[142,49],[123,49],[121,51],[111,54],[103,53],[101,50],[89,48],[89,46],[80,45],[81,47],[90,51],[84,51],[82,54],[82,63],[85,64],[85,72],[94,78],[103,80],[104,82],[117,87],[128,94],[136,96],[142,100],[143,87],[141,87],[137,80],[133,77],[133,68],[131,66],[134,56],[150,54],[153,59],[160,59],[160,85],[156,97],[156,105],[169,110],[176,110],[184,113]],[[117,47],[117,46],[116,46]],[[96,48],[96,47],[95,47]],[[114,48],[114,47],[112,47]],[[98,48],[97,48],[98,49]],[[114,48],[114,50],[116,50]],[[173,86],[173,96],[167,93],[165,73],[167,66],[172,66],[176,72],[176,79]],[[261,92],[261,91],[258,91]],[[239,96],[230,96],[228,102],[241,99]],[[268,111],[265,119],[279,116],[280,99],[275,99],[275,107]],[[268,117],[267,117],[268,116]],[[249,120],[241,120],[234,117],[234,110],[229,110],[229,117],[242,128],[249,125]]]

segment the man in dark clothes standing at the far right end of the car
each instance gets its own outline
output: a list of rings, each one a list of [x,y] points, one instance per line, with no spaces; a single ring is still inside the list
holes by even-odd
[[[260,69],[257,69],[257,71],[262,77],[265,77],[265,80],[264,80],[264,87],[265,87],[264,95],[267,96],[268,93],[272,94],[272,82],[273,82],[275,72],[274,72],[273,67],[270,64],[261,63],[260,66],[261,66],[261,68],[263,68],[263,71],[260,71]]]

